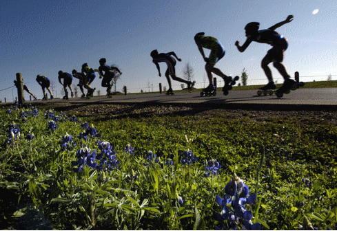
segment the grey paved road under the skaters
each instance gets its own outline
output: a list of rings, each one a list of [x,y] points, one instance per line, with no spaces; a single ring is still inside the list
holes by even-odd
[[[146,93],[127,96],[95,96],[90,100],[70,98],[70,100],[54,99],[48,102],[64,102],[98,104],[197,104],[203,106],[216,106],[220,108],[248,108],[248,109],[311,109],[317,111],[337,111],[337,88],[297,89],[291,93],[277,98],[273,96],[258,96],[257,91],[229,91],[228,96],[223,96],[221,91],[216,96],[201,97],[199,92],[175,93],[166,96],[165,93]],[[34,101],[41,102],[41,100]]]

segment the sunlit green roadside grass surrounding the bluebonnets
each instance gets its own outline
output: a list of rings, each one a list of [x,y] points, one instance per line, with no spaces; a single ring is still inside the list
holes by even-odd
[[[33,116],[22,113],[28,109],[8,110],[0,110],[0,205],[4,210],[0,223],[6,228],[244,229],[250,223],[243,221],[242,208],[252,212],[251,223],[261,224],[263,230],[335,228],[337,126],[329,120],[292,115],[256,121],[216,115],[128,118],[125,114],[104,121],[93,115],[80,122],[67,113],[40,111]],[[51,120],[57,121],[54,130],[48,129]],[[83,131],[83,122],[94,127],[85,140],[83,132],[88,131]],[[14,124],[21,129],[21,139],[12,137],[7,142]],[[26,139],[29,133],[34,133],[34,139]],[[66,133],[76,144],[63,151]],[[96,169],[112,157],[90,160],[93,151],[96,157],[103,153],[96,140],[110,142],[112,149],[106,151],[115,151],[120,161],[114,160],[113,170]],[[125,151],[128,144],[134,155]],[[91,149],[86,161],[97,162],[97,167],[84,166],[78,173],[74,164],[85,146]],[[181,160],[188,151],[197,157],[190,166]],[[167,159],[174,165],[165,164]],[[207,177],[205,167],[212,159],[221,168]],[[231,193],[230,182],[242,186],[236,175],[256,201],[243,207],[231,199],[220,208],[219,198],[225,200],[225,194]],[[214,214],[226,208],[236,221]],[[33,212],[38,225],[27,225],[25,217]]]

